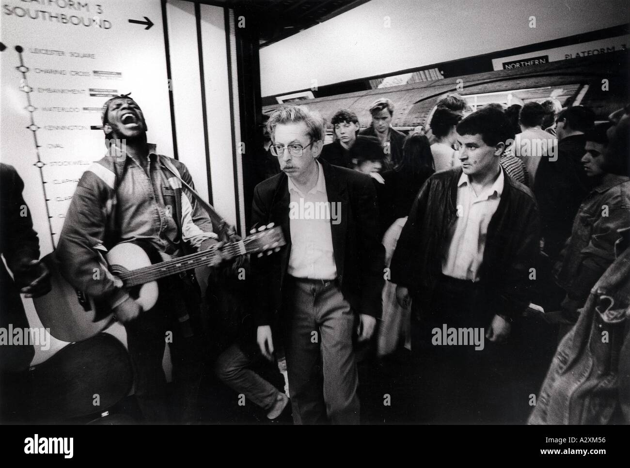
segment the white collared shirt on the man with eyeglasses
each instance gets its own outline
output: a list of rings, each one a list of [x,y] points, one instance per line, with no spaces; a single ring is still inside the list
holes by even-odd
[[[334,280],[337,268],[330,225],[333,207],[328,203],[324,169],[319,161],[316,164],[318,181],[308,193],[302,193],[289,178],[291,253],[287,273],[296,278]]]

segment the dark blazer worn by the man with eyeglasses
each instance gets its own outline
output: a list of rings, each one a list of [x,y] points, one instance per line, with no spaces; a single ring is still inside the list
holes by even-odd
[[[381,317],[385,251],[378,236],[379,214],[372,178],[319,161],[329,202],[340,202],[340,223],[331,222],[333,251],[341,292],[353,310]],[[252,259],[256,294],[251,307],[256,323],[273,324],[282,312],[282,287],[291,251],[289,188],[284,173],[256,185],[251,208],[253,226],[280,225],[287,246],[277,254]]]

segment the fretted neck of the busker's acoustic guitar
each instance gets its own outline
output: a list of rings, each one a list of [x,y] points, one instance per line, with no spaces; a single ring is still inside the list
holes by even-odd
[[[221,248],[221,256],[225,260],[245,253],[248,253],[248,249],[243,241],[228,243]],[[138,268],[137,270],[120,272],[114,270],[113,272],[123,281],[125,287],[133,287],[175,275],[181,273],[181,271],[192,270],[197,268],[197,266],[213,265],[216,263],[216,260],[217,251],[216,249],[211,249],[162,261],[151,266]]]

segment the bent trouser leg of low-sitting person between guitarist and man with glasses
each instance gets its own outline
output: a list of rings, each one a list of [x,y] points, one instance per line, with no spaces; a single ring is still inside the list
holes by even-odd
[[[280,393],[276,387],[248,369],[257,356],[248,356],[236,343],[221,353],[215,363],[217,377],[232,390],[244,394],[263,409],[271,409]]]

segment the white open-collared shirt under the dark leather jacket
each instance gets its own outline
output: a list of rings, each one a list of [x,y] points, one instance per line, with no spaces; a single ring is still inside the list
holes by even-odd
[[[449,243],[442,260],[444,275],[479,281],[488,225],[499,206],[504,182],[501,169],[495,183],[476,195],[467,174],[462,173],[457,183],[457,221],[449,232]]]

